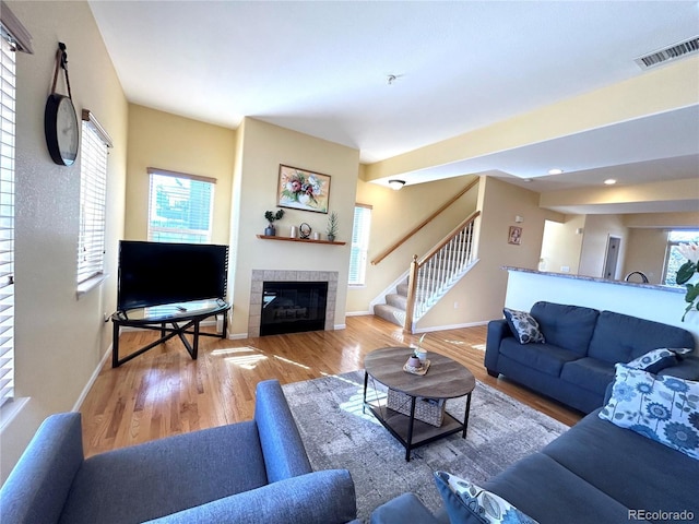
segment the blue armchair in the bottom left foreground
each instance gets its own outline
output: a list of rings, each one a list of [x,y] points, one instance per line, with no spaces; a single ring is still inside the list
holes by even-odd
[[[0,489],[3,524],[354,519],[350,473],[312,472],[277,381],[258,384],[253,420],[90,458],[80,414],[52,415]]]

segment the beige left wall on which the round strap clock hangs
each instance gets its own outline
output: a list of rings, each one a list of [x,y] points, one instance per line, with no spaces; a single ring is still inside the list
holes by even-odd
[[[8,3],[32,34],[34,55],[17,53],[16,68],[15,394],[28,402],[2,429],[2,480],[40,421],[73,408],[111,343],[103,314],[114,311],[116,303],[128,120],[127,100],[87,3]],[[44,106],[59,40],[68,47],[75,109],[93,111],[114,140],[107,166],[109,278],[80,299],[80,160],[57,166],[44,136]]]

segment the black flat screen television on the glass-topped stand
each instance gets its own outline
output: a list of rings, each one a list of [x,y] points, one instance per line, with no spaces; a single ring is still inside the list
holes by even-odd
[[[228,246],[121,240],[117,309],[226,297]]]

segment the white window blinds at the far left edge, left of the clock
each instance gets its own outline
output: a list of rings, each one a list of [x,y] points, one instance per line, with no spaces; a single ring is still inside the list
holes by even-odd
[[[3,32],[4,36],[4,32]],[[14,52],[0,38],[0,405],[14,394]]]

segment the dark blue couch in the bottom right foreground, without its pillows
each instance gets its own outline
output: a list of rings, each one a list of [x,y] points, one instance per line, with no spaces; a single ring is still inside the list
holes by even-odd
[[[597,412],[482,487],[540,524],[697,522],[699,461],[602,420]],[[451,473],[469,477],[469,472]],[[631,517],[629,511],[644,517]],[[684,519],[673,517],[682,512]],[[433,515],[413,493],[371,515],[372,524],[405,522],[445,524],[449,516],[443,510]]]

